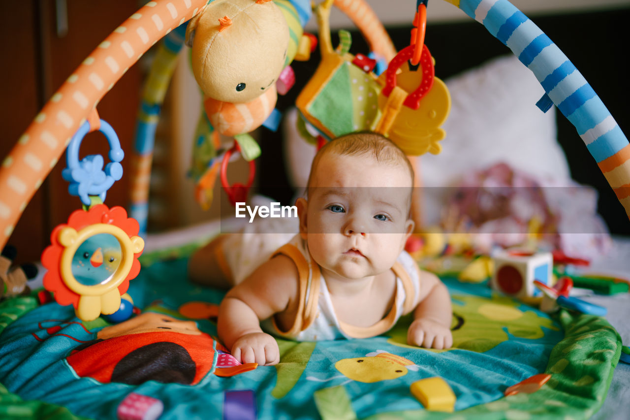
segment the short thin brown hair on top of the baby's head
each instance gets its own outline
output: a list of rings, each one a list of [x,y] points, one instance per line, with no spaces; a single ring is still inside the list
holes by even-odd
[[[411,185],[413,186],[413,167],[402,149],[382,134],[372,131],[358,131],[337,137],[319,149],[312,161],[307,187],[311,185],[311,179],[319,160],[326,153],[336,153],[340,156],[368,155],[372,156],[379,163],[386,163],[392,166],[402,164],[409,171]]]

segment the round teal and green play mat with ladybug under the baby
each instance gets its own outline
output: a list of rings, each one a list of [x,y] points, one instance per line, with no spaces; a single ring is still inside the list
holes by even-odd
[[[129,289],[142,313],[120,324],[81,322],[71,306],[36,296],[3,301],[1,417],[112,419],[129,395],[149,397],[160,419],[577,420],[599,409],[621,351],[605,318],[549,317],[485,283],[444,281],[454,309],[448,351],[404,344],[402,318],[370,339],[279,339],[280,363],[253,370],[225,370],[231,362],[212,338],[223,293],[188,283],[185,258],[145,262]],[[551,378],[539,390],[504,396],[541,373]],[[454,412],[427,411],[411,394],[435,376],[453,390]]]

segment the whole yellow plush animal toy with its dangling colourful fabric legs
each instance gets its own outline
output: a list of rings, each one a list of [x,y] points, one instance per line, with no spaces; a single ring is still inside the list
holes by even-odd
[[[311,38],[302,27],[311,15],[308,0],[214,0],[190,20],[186,45],[192,47],[192,69],[203,91],[205,118],[200,120],[195,154],[206,148],[212,153],[195,158],[197,187],[195,197],[204,208],[212,202],[212,187],[219,175],[221,156],[232,144],[219,144],[217,132],[234,137],[231,151],[239,151],[252,161],[260,155],[258,143],[249,136],[260,125],[272,130],[280,122],[274,109],[278,91],[286,93],[294,83],[289,66],[294,59],[307,60]],[[223,146],[223,147],[221,147]],[[226,161],[227,164],[227,161]],[[250,164],[253,177],[253,164]],[[225,171],[221,182],[227,185]],[[233,189],[226,191],[234,201]],[[239,201],[248,186],[238,189]]]

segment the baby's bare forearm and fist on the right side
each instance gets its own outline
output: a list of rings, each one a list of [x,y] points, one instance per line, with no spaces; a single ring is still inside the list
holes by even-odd
[[[434,349],[453,345],[449,291],[435,274],[420,271],[420,297],[413,315],[415,320],[407,332],[409,344]]]

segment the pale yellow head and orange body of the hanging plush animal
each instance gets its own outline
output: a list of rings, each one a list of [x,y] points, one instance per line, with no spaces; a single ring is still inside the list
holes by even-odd
[[[289,26],[280,8],[269,0],[214,0],[188,24],[186,44],[210,123],[226,136],[260,126],[287,62]]]

